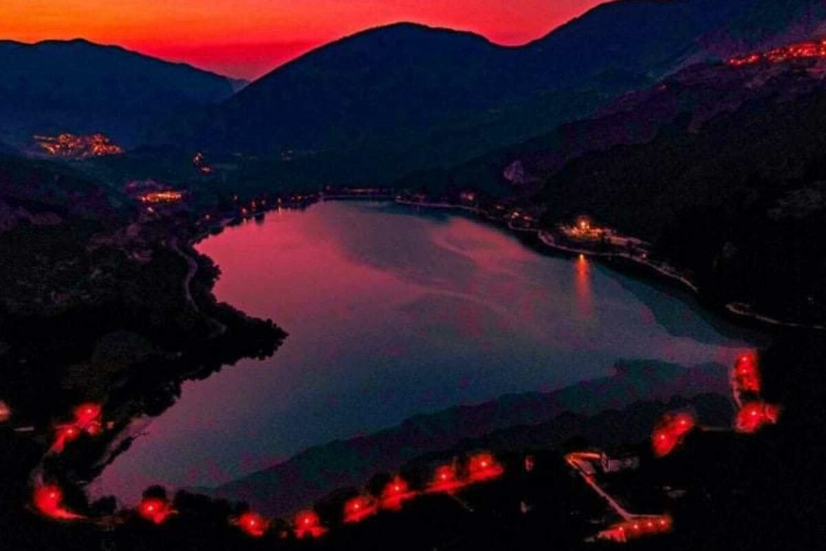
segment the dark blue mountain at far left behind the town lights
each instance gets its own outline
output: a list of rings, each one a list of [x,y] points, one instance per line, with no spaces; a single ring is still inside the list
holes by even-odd
[[[220,102],[241,84],[86,40],[0,41],[0,74],[0,138],[23,146],[32,134],[61,132],[135,145],[151,123]]]

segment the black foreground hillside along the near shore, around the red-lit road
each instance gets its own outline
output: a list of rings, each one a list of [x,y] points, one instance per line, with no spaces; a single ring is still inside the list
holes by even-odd
[[[500,479],[454,496],[421,496],[406,502],[401,511],[383,511],[349,525],[342,522],[342,504],[358,490],[341,488],[314,506],[329,529],[317,540],[295,539],[292,525],[285,520],[273,520],[271,530],[260,539],[249,537],[228,521],[246,511],[243,504],[178,492],[170,496],[178,515],[163,525],[125,515],[104,530],[87,523],[46,522],[17,507],[3,509],[0,523],[15,523],[4,543],[12,551],[54,549],[55,544],[97,549],[102,542],[122,551],[476,551],[539,550],[549,545],[553,549],[619,549],[617,544],[586,542],[616,519],[605,501],[563,461],[567,452],[599,447],[601,438],[617,436],[634,439],[625,444],[638,454],[639,468],[599,475],[599,482],[631,511],[667,512],[674,527],[672,534],[634,539],[623,549],[818,549],[824,537],[824,525],[818,522],[824,514],[820,464],[826,454],[819,441],[826,428],[824,354],[822,338],[802,333],[781,335],[761,354],[765,398],[781,404],[782,410],[777,425],[757,434],[725,430],[731,412],[728,400],[719,396],[700,397],[695,406],[702,423],[720,430],[695,430],[666,458],[654,458],[647,451],[648,438],[638,430],[644,430],[643,425],[663,409],[681,406],[678,401],[638,403],[579,420],[568,416],[569,426],[577,426],[579,437],[562,443],[554,440],[558,432],[553,425],[517,427],[418,458],[402,471],[414,485],[426,483],[434,464],[444,464],[477,446],[520,442],[519,449],[498,454],[506,468]],[[617,427],[620,430],[612,434]],[[624,432],[623,427],[630,431]],[[547,438],[549,445],[543,444]],[[3,444],[25,449],[16,439],[16,435],[0,432]],[[9,445],[0,446],[0,453],[9,449]],[[533,459],[530,469],[525,468],[527,455]],[[16,473],[16,464],[7,467],[0,483]],[[384,481],[387,475],[363,481],[363,491],[375,492]],[[107,504],[96,507],[105,510]]]

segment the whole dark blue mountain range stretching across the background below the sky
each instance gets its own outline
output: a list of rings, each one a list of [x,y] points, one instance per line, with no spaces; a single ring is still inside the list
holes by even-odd
[[[249,86],[85,40],[0,42],[0,140],[101,131],[256,159],[283,187],[449,169],[591,116],[686,65],[816,34],[822,0],[619,0],[519,47],[409,23],[311,51]],[[239,91],[240,90],[240,91]]]

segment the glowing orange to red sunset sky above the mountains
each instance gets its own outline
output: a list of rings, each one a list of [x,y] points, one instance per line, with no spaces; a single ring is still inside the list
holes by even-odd
[[[523,44],[605,0],[2,0],[0,38],[85,38],[255,78],[342,36],[397,21]]]

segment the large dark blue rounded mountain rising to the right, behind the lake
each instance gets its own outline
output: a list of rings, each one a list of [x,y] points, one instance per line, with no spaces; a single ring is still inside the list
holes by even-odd
[[[261,167],[271,181],[386,181],[552,131],[698,56],[819,21],[821,2],[777,3],[622,0],[510,48],[465,32],[382,27],[304,55],[156,139],[278,159]],[[757,31],[767,13],[783,24]]]

